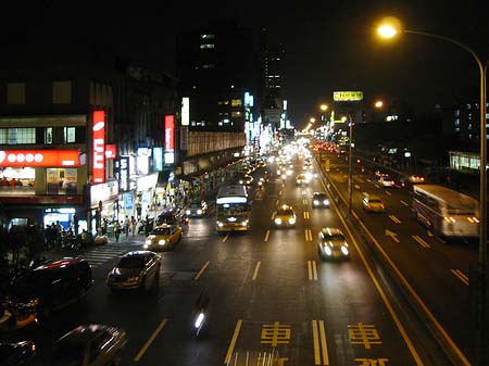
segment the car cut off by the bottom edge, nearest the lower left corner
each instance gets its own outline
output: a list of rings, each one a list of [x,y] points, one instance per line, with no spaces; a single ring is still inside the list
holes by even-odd
[[[121,328],[93,324],[78,326],[54,343],[50,365],[120,365],[126,344],[127,336]]]

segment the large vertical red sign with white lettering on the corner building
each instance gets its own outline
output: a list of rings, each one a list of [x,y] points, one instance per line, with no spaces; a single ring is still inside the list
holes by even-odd
[[[92,115],[92,166],[91,182],[105,181],[105,112],[93,111]]]

